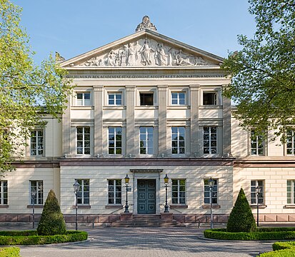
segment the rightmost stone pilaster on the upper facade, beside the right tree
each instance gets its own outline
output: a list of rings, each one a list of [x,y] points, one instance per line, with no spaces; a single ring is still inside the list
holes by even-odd
[[[226,85],[223,85],[226,86]],[[222,156],[231,156],[231,99],[222,99],[223,146]]]

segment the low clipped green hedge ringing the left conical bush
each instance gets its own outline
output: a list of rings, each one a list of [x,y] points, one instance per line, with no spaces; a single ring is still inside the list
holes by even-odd
[[[37,236],[36,231],[1,231],[1,246],[38,245],[48,243],[67,243],[84,241],[88,238],[85,231],[66,231],[65,235]]]

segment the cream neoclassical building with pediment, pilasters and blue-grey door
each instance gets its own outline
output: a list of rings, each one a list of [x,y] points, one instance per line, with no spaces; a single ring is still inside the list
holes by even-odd
[[[67,222],[113,223],[129,211],[179,223],[226,222],[242,187],[260,221],[295,221],[294,133],[286,144],[239,128],[222,96],[223,59],[159,34],[136,32],[60,65],[75,85],[61,123],[31,131],[26,156],[0,181],[0,221],[31,221],[54,189]],[[261,192],[256,193],[256,187]],[[36,190],[36,197],[31,191]],[[132,216],[129,215],[129,218]],[[164,217],[164,216],[162,216]]]

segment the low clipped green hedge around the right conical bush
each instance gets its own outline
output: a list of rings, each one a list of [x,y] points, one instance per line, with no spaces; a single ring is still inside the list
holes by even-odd
[[[295,228],[258,228],[255,232],[227,232],[226,228],[204,231],[206,238],[221,240],[293,240]]]

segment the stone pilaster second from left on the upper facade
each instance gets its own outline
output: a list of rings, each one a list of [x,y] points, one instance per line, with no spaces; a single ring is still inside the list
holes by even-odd
[[[94,156],[103,156],[103,89],[104,86],[94,86]]]

